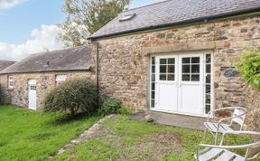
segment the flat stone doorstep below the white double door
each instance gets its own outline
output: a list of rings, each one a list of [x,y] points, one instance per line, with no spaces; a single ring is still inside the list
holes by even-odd
[[[190,128],[195,130],[204,130],[204,122],[207,118],[193,117],[180,114],[172,114],[157,111],[148,111],[148,114],[153,118],[153,122],[157,124],[168,125],[172,127]],[[131,116],[132,120],[144,121],[144,112],[136,113]]]

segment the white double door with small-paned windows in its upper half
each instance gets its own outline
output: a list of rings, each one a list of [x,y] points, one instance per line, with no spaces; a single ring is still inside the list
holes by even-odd
[[[155,57],[154,109],[203,115],[203,54]]]

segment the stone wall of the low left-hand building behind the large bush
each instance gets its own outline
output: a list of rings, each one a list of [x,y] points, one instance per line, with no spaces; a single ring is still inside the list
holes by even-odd
[[[64,72],[40,72],[40,73],[19,73],[13,74],[14,88],[7,88],[7,76],[1,75],[1,98],[5,104],[13,104],[19,107],[28,107],[28,92],[29,85],[28,80],[37,81],[37,108],[42,107],[42,99],[48,90],[55,87],[55,75],[64,74],[67,75],[67,80],[73,78],[85,78],[88,77],[95,80],[95,72],[93,71],[64,71]]]

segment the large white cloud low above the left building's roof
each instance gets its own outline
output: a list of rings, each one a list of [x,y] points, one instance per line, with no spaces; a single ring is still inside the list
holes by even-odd
[[[41,30],[32,30],[32,39],[22,44],[0,42],[0,60],[20,60],[31,53],[59,50],[63,44],[56,39],[60,28],[56,25],[42,25]]]

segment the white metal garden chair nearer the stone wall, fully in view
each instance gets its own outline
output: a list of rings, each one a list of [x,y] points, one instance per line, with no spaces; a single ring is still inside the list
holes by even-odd
[[[219,112],[221,110],[232,110],[233,113],[231,117],[228,118],[221,118],[217,122],[210,122],[210,117],[215,116],[216,112]],[[245,122],[246,118],[246,109],[241,107],[228,107],[228,108],[222,108],[222,109],[215,109],[211,110],[208,113],[207,122],[204,123],[205,125],[205,133],[204,133],[204,140],[206,139],[207,131],[215,137],[215,145],[218,141],[218,134],[223,134],[227,131],[234,131],[234,124],[237,124],[237,130],[241,131]],[[225,123],[229,122],[229,124]]]

